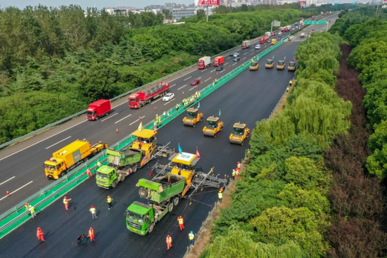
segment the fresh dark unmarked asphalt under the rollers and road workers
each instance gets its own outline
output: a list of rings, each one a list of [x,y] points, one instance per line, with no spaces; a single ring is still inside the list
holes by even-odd
[[[273,51],[275,60],[287,56],[293,58],[299,42],[288,42]],[[165,144],[171,141],[172,147],[180,143],[182,150],[194,153],[196,146],[201,154],[198,167],[208,172],[215,167],[216,174],[231,174],[236,162],[243,157],[245,146],[229,144],[229,134],[234,122],[246,122],[253,129],[257,120],[268,117],[281,94],[286,89],[288,80],[293,77],[292,72],[262,69],[265,58],[260,60],[260,70],[250,72],[245,70],[241,75],[231,79],[209,98],[201,101],[201,112],[207,118],[222,111],[221,120],[224,130],[217,138],[203,136],[202,129],[205,122],[196,128],[184,127],[183,115],[159,130],[158,141]],[[162,161],[162,160],[160,160]],[[165,163],[165,162],[164,162]],[[37,219],[27,221],[20,228],[15,229],[0,243],[0,250],[4,257],[182,257],[188,245],[189,231],[198,232],[201,222],[217,200],[217,193],[195,195],[194,200],[182,200],[179,206],[167,214],[155,231],[149,236],[141,237],[127,231],[125,226],[125,209],[134,200],[141,200],[135,186],[142,178],[149,178],[148,169],[140,169],[132,174],[116,188],[109,191],[96,186],[95,179],[82,183],[67,194],[72,198],[69,211],[65,211],[63,203],[58,200],[41,212]],[[201,192],[202,193],[202,192]],[[112,210],[108,210],[106,196],[114,199]],[[205,204],[202,204],[203,202]],[[91,219],[89,208],[96,206],[99,211],[98,219]],[[76,207],[76,209],[75,209]],[[177,216],[182,214],[186,221],[183,232],[179,231]],[[37,227],[44,230],[45,243],[39,243],[36,238]],[[87,233],[89,227],[96,231],[96,241],[87,245],[77,245],[77,236]],[[165,237],[170,234],[175,248],[167,251]]]

